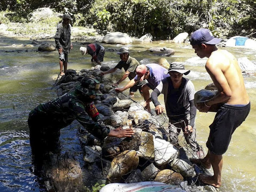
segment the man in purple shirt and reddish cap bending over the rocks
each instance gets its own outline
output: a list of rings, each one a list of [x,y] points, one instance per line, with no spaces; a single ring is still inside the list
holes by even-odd
[[[116,92],[123,92],[124,90],[134,86],[138,82],[146,79],[148,83],[142,86],[143,98],[146,101],[150,98],[149,90],[154,90],[164,78],[170,77],[169,74],[164,74],[165,71],[167,73],[166,68],[155,63],[139,65],[136,68],[137,75],[132,80],[130,80],[130,82],[128,82],[126,86],[124,86],[123,88],[115,88],[115,90]],[[148,112],[151,112],[149,103],[147,104],[146,109],[148,110]]]

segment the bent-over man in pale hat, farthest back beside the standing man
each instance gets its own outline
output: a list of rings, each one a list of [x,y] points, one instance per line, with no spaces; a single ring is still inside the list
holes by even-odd
[[[96,43],[88,44],[85,47],[80,47],[80,51],[83,55],[88,53],[90,56],[92,56],[91,62],[95,61],[99,65],[101,64],[100,62],[103,61],[106,52],[103,46]]]

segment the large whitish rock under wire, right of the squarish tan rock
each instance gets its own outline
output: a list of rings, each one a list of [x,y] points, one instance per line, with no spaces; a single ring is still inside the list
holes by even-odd
[[[164,165],[178,157],[178,150],[170,142],[154,138],[154,154],[157,165]]]

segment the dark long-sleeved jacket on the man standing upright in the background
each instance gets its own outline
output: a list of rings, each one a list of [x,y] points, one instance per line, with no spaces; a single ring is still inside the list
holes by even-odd
[[[56,48],[62,48],[65,53],[71,49],[71,29],[70,24],[64,25],[62,22],[58,25],[54,36]]]

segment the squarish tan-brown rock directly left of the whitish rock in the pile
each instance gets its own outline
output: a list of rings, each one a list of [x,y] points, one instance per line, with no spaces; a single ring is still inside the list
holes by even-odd
[[[151,133],[142,131],[140,134],[140,146],[138,156],[146,160],[154,159],[154,138]]]

